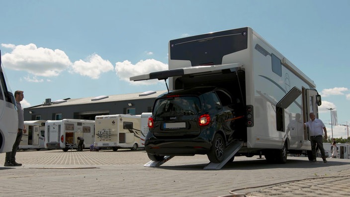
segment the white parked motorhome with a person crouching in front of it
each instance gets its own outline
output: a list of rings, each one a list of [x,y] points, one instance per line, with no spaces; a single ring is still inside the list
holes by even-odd
[[[84,138],[83,148],[94,142],[94,120],[63,119],[45,123],[45,148],[68,151],[78,148],[78,137]]]

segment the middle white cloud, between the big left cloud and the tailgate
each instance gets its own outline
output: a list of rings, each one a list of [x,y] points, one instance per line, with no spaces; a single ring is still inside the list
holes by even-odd
[[[101,73],[113,70],[113,65],[108,60],[103,60],[99,55],[93,54],[87,61],[79,60],[73,63],[72,71],[92,79],[98,79]]]

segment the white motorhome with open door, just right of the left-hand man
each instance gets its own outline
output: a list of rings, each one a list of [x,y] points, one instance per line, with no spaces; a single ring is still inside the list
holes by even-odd
[[[26,120],[24,126],[26,128],[23,131],[21,142],[18,149],[36,149],[40,150],[45,148],[45,122],[46,120]]]

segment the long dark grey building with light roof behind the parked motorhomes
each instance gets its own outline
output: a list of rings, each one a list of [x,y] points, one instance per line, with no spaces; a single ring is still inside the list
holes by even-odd
[[[65,98],[24,108],[24,120],[88,119],[96,115],[152,112],[155,99],[167,91],[147,91],[90,98]]]

